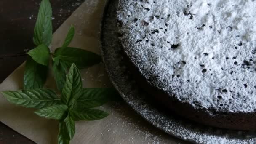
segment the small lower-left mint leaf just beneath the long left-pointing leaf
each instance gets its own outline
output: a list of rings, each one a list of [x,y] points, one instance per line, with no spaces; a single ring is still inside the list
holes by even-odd
[[[35,111],[35,114],[48,119],[60,120],[63,118],[68,107],[66,105],[54,105]]]

